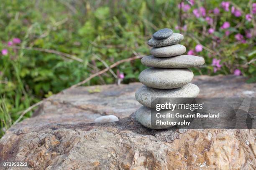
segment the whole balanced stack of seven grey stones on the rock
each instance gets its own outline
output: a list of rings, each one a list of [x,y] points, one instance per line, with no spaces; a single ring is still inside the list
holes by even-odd
[[[135,119],[151,129],[169,128],[170,125],[151,126],[152,97],[197,97],[199,88],[191,82],[194,74],[188,67],[198,67],[205,63],[203,57],[182,55],[186,47],[178,44],[184,36],[173,33],[169,28],[161,29],[148,40],[151,55],[141,59],[150,68],[139,75],[144,85],[136,91],[136,100],[143,106],[135,114]],[[173,102],[171,101],[168,102]],[[176,102],[174,102],[176,103]],[[170,120],[173,121],[173,120]]]

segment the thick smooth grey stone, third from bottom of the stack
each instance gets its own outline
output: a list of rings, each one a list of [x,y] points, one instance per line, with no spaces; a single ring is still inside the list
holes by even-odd
[[[191,82],[194,74],[188,68],[148,68],[139,75],[143,85],[157,89],[178,88]]]

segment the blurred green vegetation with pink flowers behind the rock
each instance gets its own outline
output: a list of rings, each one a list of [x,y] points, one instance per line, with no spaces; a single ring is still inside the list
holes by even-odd
[[[178,7],[180,2],[186,6]],[[253,1],[229,3],[227,11],[220,0],[1,2],[0,136],[24,110],[45,97],[118,60],[148,55],[146,42],[161,28],[181,32],[181,44],[187,51],[205,58],[203,67],[192,69],[195,75],[235,74],[248,77],[248,83],[256,81]],[[241,16],[233,15],[232,6]],[[219,13],[213,12],[216,7]],[[225,22],[230,24],[228,28],[223,28]],[[203,49],[198,50],[197,45]],[[115,83],[118,72],[124,74],[123,83],[138,81],[139,72],[145,68],[139,59],[123,62],[112,73],[94,77],[85,85]],[[26,112],[20,118],[31,114]]]

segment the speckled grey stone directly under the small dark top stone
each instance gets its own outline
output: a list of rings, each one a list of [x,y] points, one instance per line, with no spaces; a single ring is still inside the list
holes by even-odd
[[[167,46],[167,45],[172,45],[172,44],[177,44],[181,40],[183,40],[184,36],[179,33],[173,33],[170,37],[166,39],[155,39],[151,38],[148,40],[148,45],[150,47],[162,47],[162,46]]]

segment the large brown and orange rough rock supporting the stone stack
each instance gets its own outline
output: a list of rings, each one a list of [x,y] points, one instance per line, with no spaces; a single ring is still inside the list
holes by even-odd
[[[245,81],[195,76],[192,83],[200,87],[198,97],[256,97],[256,84]],[[256,130],[149,130],[135,122],[141,105],[134,95],[141,86],[78,87],[47,98],[34,117],[0,139],[0,165],[8,160],[28,162],[21,170],[256,169]],[[95,88],[101,92],[89,92]],[[93,123],[102,115],[120,121]]]

